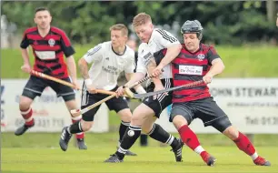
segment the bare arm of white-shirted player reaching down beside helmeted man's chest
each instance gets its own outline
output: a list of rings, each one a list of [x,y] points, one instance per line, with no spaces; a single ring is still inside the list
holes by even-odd
[[[164,68],[164,66],[171,63],[174,60],[174,58],[180,54],[181,49],[182,49],[182,46],[180,44],[176,44],[174,46],[168,47],[166,55],[164,56],[162,61],[159,63],[159,65],[156,66],[156,68],[154,68],[152,76],[161,75],[162,69]]]

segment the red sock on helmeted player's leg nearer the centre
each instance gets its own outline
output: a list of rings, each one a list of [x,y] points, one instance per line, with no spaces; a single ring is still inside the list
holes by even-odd
[[[191,149],[195,149],[198,146],[200,146],[200,142],[198,140],[198,137],[194,134],[194,132],[186,125],[179,128],[180,136],[182,137],[182,140],[184,143]]]

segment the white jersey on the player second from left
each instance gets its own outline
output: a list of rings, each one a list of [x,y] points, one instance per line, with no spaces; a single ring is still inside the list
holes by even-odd
[[[118,55],[111,41],[104,42],[91,48],[83,57],[88,64],[93,62],[89,76],[93,86],[98,89],[113,89],[122,71],[134,73],[134,50],[129,46],[125,46],[123,55]]]

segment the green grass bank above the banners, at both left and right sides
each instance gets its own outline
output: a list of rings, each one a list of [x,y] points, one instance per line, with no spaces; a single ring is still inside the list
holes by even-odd
[[[77,61],[91,46],[75,46]],[[226,66],[222,77],[277,77],[278,64],[275,46],[216,46]],[[31,53],[32,51],[30,51]],[[30,56],[32,62],[34,57]],[[26,78],[20,66],[23,60],[19,49],[1,49],[1,75],[3,78]],[[78,76],[80,74],[78,72]]]

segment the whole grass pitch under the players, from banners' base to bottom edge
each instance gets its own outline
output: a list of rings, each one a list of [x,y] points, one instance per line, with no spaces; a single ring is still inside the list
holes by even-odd
[[[115,151],[117,133],[87,134],[88,150],[74,148],[73,141],[66,152],[58,146],[59,134],[27,133],[15,137],[12,133],[2,134],[2,172],[4,173],[83,173],[83,172],[278,172],[277,137],[268,137],[269,144],[260,143],[258,153],[272,163],[272,167],[253,165],[250,157],[236,148],[229,139],[219,146],[215,138],[198,135],[203,147],[217,158],[214,167],[207,167],[197,154],[184,147],[183,162],[174,161],[170,147],[149,138],[149,146],[139,147],[138,142],[131,148],[137,157],[125,157],[124,163],[107,164],[104,159]],[[211,138],[211,139],[210,139]],[[212,139],[214,138],[214,139]],[[261,138],[262,139],[262,138]],[[219,140],[219,139],[217,139]],[[256,137],[256,141],[260,140]],[[276,143],[275,143],[276,140]],[[264,141],[265,142],[265,141]]]

